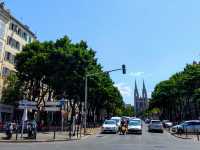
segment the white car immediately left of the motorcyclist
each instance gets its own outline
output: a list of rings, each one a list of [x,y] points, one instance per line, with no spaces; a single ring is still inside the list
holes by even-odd
[[[115,120],[105,120],[102,126],[102,133],[117,133],[118,126]]]

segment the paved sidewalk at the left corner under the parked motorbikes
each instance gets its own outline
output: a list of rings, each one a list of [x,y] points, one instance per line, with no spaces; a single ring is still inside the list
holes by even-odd
[[[36,139],[28,139],[27,134],[23,135],[23,138],[21,138],[21,134],[18,134],[17,140],[16,140],[16,134],[14,133],[12,135],[12,138],[10,140],[6,139],[5,133],[0,133],[0,142],[10,142],[10,143],[23,143],[23,142],[54,142],[54,141],[69,141],[69,140],[80,140],[87,138],[90,135],[96,134],[100,131],[100,128],[90,128],[87,129],[86,135],[84,135],[83,130],[81,131],[81,137],[80,133],[77,136],[77,133],[75,136],[69,136],[69,132],[61,132],[57,131],[55,132],[38,132]]]

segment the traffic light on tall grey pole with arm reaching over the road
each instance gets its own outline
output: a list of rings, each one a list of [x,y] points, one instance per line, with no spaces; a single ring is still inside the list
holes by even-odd
[[[119,70],[122,70],[122,73],[126,74],[126,66],[124,64],[122,65],[122,68],[105,71],[104,73],[110,73],[110,72],[119,71]],[[87,90],[87,88],[88,88],[87,80],[88,80],[88,77],[95,76],[95,75],[98,75],[98,74],[101,74],[101,73],[102,72],[97,72],[97,73],[93,73],[93,74],[86,74],[86,76],[85,76],[84,135],[86,135],[86,125],[87,125],[87,92],[88,92],[88,90]]]

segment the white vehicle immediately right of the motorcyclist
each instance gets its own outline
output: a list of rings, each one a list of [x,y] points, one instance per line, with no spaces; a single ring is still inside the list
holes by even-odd
[[[135,118],[128,123],[128,133],[139,133],[142,134],[142,120]]]

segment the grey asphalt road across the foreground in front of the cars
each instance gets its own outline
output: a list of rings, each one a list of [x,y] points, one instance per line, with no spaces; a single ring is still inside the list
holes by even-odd
[[[0,150],[199,150],[200,142],[173,137],[167,132],[142,135],[96,134],[81,141],[56,143],[0,143]]]

